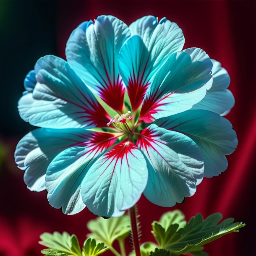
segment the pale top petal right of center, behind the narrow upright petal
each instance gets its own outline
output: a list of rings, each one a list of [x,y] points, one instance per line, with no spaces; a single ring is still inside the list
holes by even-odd
[[[151,60],[157,68],[173,52],[182,50],[185,39],[182,30],[174,22],[154,16],[144,16],[133,22],[131,34],[142,38],[151,54]]]

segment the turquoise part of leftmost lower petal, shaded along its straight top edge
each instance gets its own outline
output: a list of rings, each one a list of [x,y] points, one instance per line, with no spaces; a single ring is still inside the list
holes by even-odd
[[[45,189],[45,174],[50,162],[64,149],[83,144],[90,138],[84,129],[39,128],[24,136],[14,153],[15,162],[25,170],[24,181],[32,191]]]

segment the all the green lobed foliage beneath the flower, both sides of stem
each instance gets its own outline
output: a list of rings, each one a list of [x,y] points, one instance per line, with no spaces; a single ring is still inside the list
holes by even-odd
[[[179,210],[166,212],[159,221],[152,223],[152,234],[156,243],[146,242],[141,244],[141,256],[174,256],[189,253],[192,256],[209,256],[204,252],[204,245],[223,235],[238,232],[245,224],[234,222],[234,219],[225,219],[222,222],[222,214],[215,213],[203,219],[201,214],[192,217],[189,222]],[[99,256],[108,249],[115,256],[126,256],[125,238],[128,237],[131,228],[127,215],[117,218],[97,218],[87,224],[90,233],[81,249],[76,235],[44,233],[41,235],[40,244],[49,249],[42,250],[47,256]],[[118,240],[120,253],[113,247]],[[129,256],[135,256],[131,252]]]

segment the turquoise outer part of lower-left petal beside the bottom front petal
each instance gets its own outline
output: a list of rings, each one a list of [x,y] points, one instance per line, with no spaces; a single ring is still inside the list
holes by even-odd
[[[76,214],[85,208],[81,198],[81,183],[89,170],[93,154],[83,147],[61,152],[46,172],[47,198],[54,208],[65,214]]]

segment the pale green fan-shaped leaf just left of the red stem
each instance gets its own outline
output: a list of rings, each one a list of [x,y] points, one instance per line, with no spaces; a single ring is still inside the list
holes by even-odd
[[[108,247],[111,247],[115,240],[126,238],[131,230],[127,215],[110,219],[99,217],[89,221],[87,227],[91,231],[89,238],[103,242]]]

